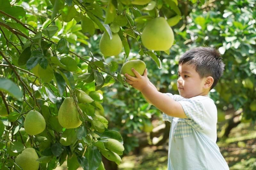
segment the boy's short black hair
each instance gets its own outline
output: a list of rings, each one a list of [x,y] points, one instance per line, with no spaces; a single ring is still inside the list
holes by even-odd
[[[223,74],[225,64],[218,50],[211,47],[196,47],[185,52],[179,59],[179,65],[193,64],[200,78],[212,76],[213,89]]]

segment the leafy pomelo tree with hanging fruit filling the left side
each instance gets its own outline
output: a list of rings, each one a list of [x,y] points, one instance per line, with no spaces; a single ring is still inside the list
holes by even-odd
[[[170,54],[174,41],[170,26],[182,16],[178,5],[177,0],[2,0],[1,168],[26,169],[29,160],[34,169],[38,162],[40,169],[54,169],[67,160],[68,169],[105,169],[103,157],[120,164],[124,141],[119,131],[108,129],[101,89],[127,84],[110,56],[124,63],[129,42],[136,42],[138,53],[161,68],[159,56]],[[157,41],[168,30],[160,42],[164,49],[141,40],[147,23],[154,25],[159,17],[163,25],[147,30],[144,38]],[[89,40],[101,34],[97,51]]]

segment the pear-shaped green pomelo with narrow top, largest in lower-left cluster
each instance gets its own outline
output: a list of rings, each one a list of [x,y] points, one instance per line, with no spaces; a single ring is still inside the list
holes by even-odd
[[[82,124],[75,101],[72,97],[66,97],[60,106],[58,120],[62,127],[67,129],[77,128]]]

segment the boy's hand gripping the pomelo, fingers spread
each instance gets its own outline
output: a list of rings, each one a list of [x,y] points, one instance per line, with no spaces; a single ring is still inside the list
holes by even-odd
[[[148,69],[146,68],[143,75],[140,75],[135,69],[132,68],[132,72],[136,75],[136,77],[132,77],[129,74],[125,74],[126,82],[129,83],[133,88],[142,91],[143,88],[149,85],[148,80]]]

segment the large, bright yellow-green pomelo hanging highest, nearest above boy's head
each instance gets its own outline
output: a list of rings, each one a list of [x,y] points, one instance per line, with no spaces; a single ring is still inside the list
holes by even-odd
[[[174,35],[172,28],[163,17],[150,20],[145,26],[141,40],[149,50],[166,51],[171,48]]]

